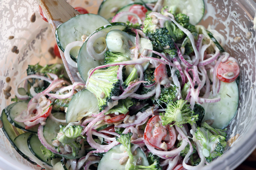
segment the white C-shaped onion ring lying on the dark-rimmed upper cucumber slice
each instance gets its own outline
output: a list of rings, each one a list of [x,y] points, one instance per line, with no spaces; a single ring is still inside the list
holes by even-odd
[[[107,33],[105,31],[98,31],[96,33],[94,33],[92,36],[90,36],[90,38],[88,39],[87,42],[87,50],[90,53],[91,57],[95,60],[103,60],[104,59],[104,53],[107,51],[107,46],[105,47],[104,51],[102,51],[101,53],[96,53],[96,51],[94,50],[94,42],[100,38],[100,37],[104,37],[106,38]]]

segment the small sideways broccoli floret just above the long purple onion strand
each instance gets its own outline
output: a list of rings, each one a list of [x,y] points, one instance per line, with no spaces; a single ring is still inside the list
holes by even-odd
[[[104,64],[118,63],[122,61],[130,61],[130,57],[123,53],[113,53],[111,51],[106,51],[104,59]]]

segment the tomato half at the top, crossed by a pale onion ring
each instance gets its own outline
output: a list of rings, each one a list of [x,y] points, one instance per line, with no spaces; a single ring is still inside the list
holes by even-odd
[[[142,5],[133,5],[131,6],[131,8],[129,9],[129,12],[132,12],[134,14],[137,14],[138,17],[140,17],[140,19],[142,21],[145,20],[146,18],[146,12],[148,12],[148,10],[142,6]],[[138,23],[138,20],[136,19],[136,17],[134,16],[128,16],[128,20],[131,22],[131,23]]]

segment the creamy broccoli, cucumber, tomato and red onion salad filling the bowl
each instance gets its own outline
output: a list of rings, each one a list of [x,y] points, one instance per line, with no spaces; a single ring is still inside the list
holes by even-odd
[[[2,111],[14,149],[47,170],[200,170],[222,156],[240,68],[197,25],[204,1],[77,10],[56,29],[63,64],[28,65]]]

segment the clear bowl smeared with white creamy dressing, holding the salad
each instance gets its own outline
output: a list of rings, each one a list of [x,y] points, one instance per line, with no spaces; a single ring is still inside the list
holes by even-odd
[[[97,14],[102,0],[68,0],[73,7],[86,8],[90,13]],[[227,147],[221,156],[204,167],[203,170],[231,170],[236,168],[256,148],[256,38],[253,20],[256,4],[253,0],[204,0],[206,14],[201,25],[216,29],[224,36],[224,49],[236,58],[240,64],[239,104],[234,119],[228,125],[228,139],[240,134],[238,139]],[[36,21],[31,22],[32,14]],[[15,87],[21,78],[26,76],[28,64],[60,63],[50,55],[48,49],[53,47],[54,35],[48,23],[40,18],[36,0],[1,0],[0,1],[0,109],[11,103],[6,100],[3,89],[10,85]],[[252,33],[250,39],[246,38]],[[9,40],[9,36],[14,39]],[[234,38],[240,36],[239,43]],[[19,53],[12,53],[13,46]],[[6,82],[6,77],[11,81]],[[0,130],[0,169],[31,170],[41,169],[20,156],[10,145]]]

